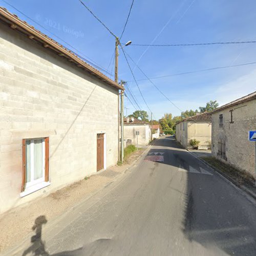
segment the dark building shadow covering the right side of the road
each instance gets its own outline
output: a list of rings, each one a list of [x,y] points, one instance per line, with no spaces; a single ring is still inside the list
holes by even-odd
[[[164,162],[172,166],[207,169],[195,157],[183,150],[172,138],[157,140],[159,148],[150,153],[164,153]],[[186,192],[184,220],[181,227],[185,237],[205,248],[217,247],[229,255],[255,255],[255,206],[239,191],[216,175],[184,172]]]

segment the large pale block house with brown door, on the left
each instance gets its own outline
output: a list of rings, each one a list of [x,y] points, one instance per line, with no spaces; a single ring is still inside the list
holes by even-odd
[[[4,8],[0,35],[2,213],[116,164],[123,88]]]

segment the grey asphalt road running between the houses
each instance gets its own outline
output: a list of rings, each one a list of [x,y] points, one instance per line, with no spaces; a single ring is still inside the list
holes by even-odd
[[[43,233],[38,255],[256,255],[256,206],[169,137]]]

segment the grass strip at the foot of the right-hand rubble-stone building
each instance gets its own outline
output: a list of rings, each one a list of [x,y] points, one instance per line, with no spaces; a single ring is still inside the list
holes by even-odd
[[[216,169],[220,170],[222,173],[229,176],[234,181],[238,182],[240,185],[254,185],[255,179],[253,176],[245,170],[240,170],[237,168],[234,168],[233,166],[223,163],[222,161],[216,159],[215,157],[201,157],[203,160],[205,160],[208,164],[210,164],[212,167],[215,167]]]

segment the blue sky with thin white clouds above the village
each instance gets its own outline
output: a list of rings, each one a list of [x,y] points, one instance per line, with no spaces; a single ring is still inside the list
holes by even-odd
[[[84,0],[84,3],[115,35],[121,35],[132,0]],[[78,0],[0,0],[0,5],[114,75],[115,37]],[[193,47],[133,44],[249,41],[256,40],[255,31],[255,0],[135,0],[121,42],[132,41],[124,48],[125,52],[147,77],[154,78],[255,62],[256,44]],[[222,105],[256,91],[255,64],[152,79],[176,107],[150,81],[141,80],[145,76],[130,58],[128,60],[155,119],[164,113],[176,116],[180,115],[180,110],[198,109],[210,100]],[[128,81],[127,86],[140,108],[150,113],[121,49],[118,78]],[[129,98],[133,101],[131,95]],[[137,110],[127,97],[124,104],[125,114]]]

